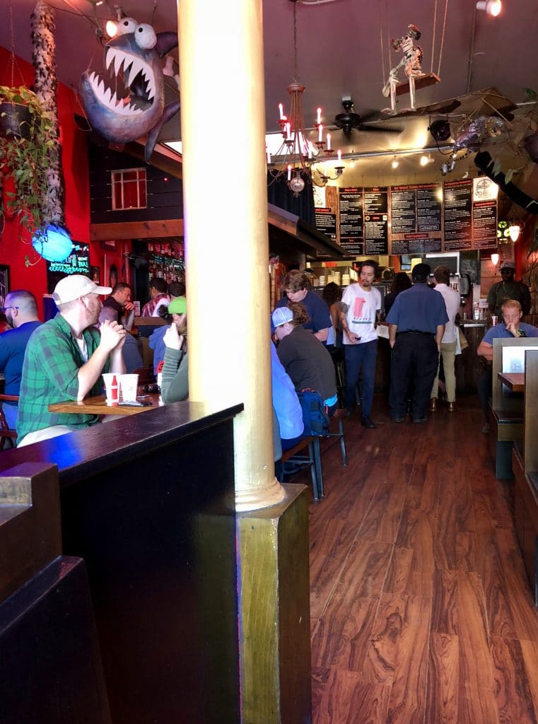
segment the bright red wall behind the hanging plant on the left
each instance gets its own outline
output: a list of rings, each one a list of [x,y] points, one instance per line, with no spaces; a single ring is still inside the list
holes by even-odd
[[[22,77],[21,77],[22,73]],[[13,85],[32,85],[33,66],[20,58],[14,68]],[[0,85],[12,85],[9,51],[0,48]],[[75,125],[74,114],[83,114],[75,93],[70,88],[58,85],[57,91],[60,139],[62,142],[62,166],[65,184],[65,220],[73,240],[89,241],[90,192],[88,177],[88,151],[85,133]],[[122,279],[122,245],[117,243],[114,251],[104,250],[100,243],[90,245],[90,264],[101,269],[101,283],[107,283],[104,273],[104,254],[107,265],[115,264]],[[26,257],[30,265],[26,264]],[[38,300],[47,292],[46,261],[32,248],[30,237],[21,230],[17,221],[6,221],[0,237],[0,264],[9,266],[11,289],[28,289]]]

